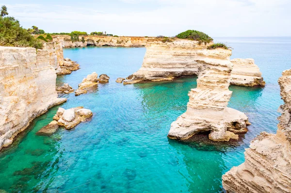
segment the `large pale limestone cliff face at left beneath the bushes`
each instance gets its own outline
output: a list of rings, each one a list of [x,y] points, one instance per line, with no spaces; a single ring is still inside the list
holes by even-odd
[[[54,105],[56,73],[47,49],[0,47],[0,149]]]

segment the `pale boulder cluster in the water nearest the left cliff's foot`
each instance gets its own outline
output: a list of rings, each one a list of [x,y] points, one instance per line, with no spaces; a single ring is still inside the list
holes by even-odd
[[[93,115],[89,109],[76,107],[71,109],[59,108],[56,115],[53,117],[59,126],[64,126],[65,129],[72,129],[79,123],[86,121]]]

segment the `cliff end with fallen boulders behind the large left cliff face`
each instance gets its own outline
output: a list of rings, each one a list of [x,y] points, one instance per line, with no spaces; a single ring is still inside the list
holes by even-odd
[[[49,64],[56,70],[57,75],[70,74],[80,69],[80,65],[70,59],[64,59],[63,47],[54,39],[52,42],[44,43],[43,49],[48,50]]]

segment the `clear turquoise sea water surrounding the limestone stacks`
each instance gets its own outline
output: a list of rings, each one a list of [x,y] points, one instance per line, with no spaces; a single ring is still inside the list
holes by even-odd
[[[93,118],[50,137],[35,133],[58,107],[33,121],[12,147],[0,154],[0,189],[8,192],[192,192],[222,191],[221,176],[244,161],[244,148],[261,131],[275,133],[282,101],[277,79],[290,68],[291,38],[215,38],[234,48],[232,58],[254,58],[265,88],[231,86],[229,107],[252,125],[233,145],[203,145],[167,139],[170,124],[186,111],[196,78],[135,85],[116,83],[142,64],[145,48],[68,48],[65,57],[81,69],[58,77],[73,88],[87,74],[110,76],[95,93],[64,95],[58,107],[84,106]]]

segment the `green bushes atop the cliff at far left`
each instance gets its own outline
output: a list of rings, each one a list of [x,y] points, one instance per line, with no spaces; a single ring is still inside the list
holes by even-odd
[[[0,11],[0,46],[42,48],[42,42],[22,28],[14,17],[7,16],[7,7]]]

